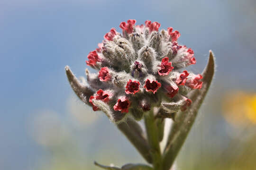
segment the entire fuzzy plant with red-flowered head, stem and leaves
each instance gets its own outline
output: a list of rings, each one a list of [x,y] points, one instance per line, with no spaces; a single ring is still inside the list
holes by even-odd
[[[160,24],[147,20],[136,25],[129,19],[111,28],[86,64],[97,70],[78,80],[70,68],[65,71],[73,91],[82,102],[101,110],[148,162],[128,163],[121,168],[95,165],[106,170],[170,170],[210,87],[214,57],[201,74],[184,68],[196,64],[194,52],[178,44],[178,31],[159,31]],[[146,132],[137,122],[144,120]],[[169,133],[165,121],[172,119]],[[165,147],[160,142],[167,135]]]

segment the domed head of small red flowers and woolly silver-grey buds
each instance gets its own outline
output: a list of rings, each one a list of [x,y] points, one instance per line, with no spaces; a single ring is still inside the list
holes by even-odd
[[[141,119],[153,107],[174,113],[190,106],[185,96],[201,89],[202,76],[179,70],[196,63],[194,52],[178,44],[178,31],[159,31],[160,26],[149,20],[136,25],[129,19],[119,25],[122,34],[111,28],[89,53],[86,64],[99,70],[86,72],[94,92],[89,98],[93,110],[102,110],[118,123],[128,114]]]

